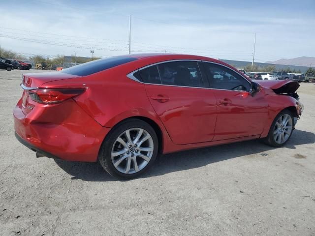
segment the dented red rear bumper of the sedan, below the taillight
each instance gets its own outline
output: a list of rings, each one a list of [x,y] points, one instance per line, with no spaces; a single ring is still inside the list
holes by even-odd
[[[110,131],[87,115],[72,99],[49,108],[22,111],[20,100],[13,110],[16,138],[40,156],[69,161],[97,160],[101,144]]]

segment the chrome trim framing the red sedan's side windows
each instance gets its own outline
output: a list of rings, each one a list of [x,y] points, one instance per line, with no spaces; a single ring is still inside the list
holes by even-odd
[[[226,67],[232,71],[234,71],[235,73],[237,73],[238,75],[240,75],[242,78],[244,78],[248,83],[251,84],[251,82],[246,79],[241,73],[231,69],[230,67],[226,66],[226,65],[223,65],[221,63],[217,63],[217,62],[213,62],[213,61],[208,61],[208,60],[197,60],[197,59],[174,59],[174,60],[164,60],[164,61],[159,61],[159,62],[156,62],[156,63],[153,63],[153,64],[150,64],[150,65],[146,65],[146,66],[143,66],[139,69],[136,69],[132,72],[130,72],[129,74],[127,74],[126,76],[131,79],[131,80],[134,80],[136,82],[139,82],[141,84],[145,84],[145,85],[160,85],[160,86],[173,86],[173,87],[181,87],[181,88],[194,88],[194,89],[214,89],[214,88],[206,88],[206,87],[190,87],[190,86],[180,86],[180,85],[163,85],[162,82],[161,84],[151,84],[151,83],[144,83],[140,80],[138,80],[137,78],[134,77],[134,73],[137,72],[137,71],[140,71],[140,70],[143,70],[147,67],[150,67],[150,66],[154,66],[154,65],[158,65],[158,64],[162,64],[162,63],[166,63],[166,62],[175,62],[175,61],[197,61],[197,62],[206,62],[206,63],[213,63],[213,64],[217,64],[217,65],[221,65],[223,67]],[[203,80],[203,77],[202,77],[202,73],[201,73],[201,69],[200,69],[200,66],[199,66],[199,63],[197,63],[198,65],[198,68],[199,68],[199,71],[200,71],[200,75],[201,75],[201,78]],[[158,66],[157,66],[158,68]],[[158,69],[158,74],[159,74],[159,69]],[[159,74],[160,75],[160,74]],[[160,76],[160,79],[161,79],[161,76]],[[247,90],[231,90],[231,89],[215,89],[215,90],[224,90],[224,91],[235,91],[235,92],[248,92]]]

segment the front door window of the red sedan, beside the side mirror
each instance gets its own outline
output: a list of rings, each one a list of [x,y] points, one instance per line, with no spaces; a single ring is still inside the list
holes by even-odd
[[[203,63],[213,89],[249,91],[250,83],[235,71],[218,64]]]

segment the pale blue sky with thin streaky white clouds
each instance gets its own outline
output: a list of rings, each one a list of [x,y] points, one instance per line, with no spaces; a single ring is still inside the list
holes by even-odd
[[[5,4],[1,4],[5,2]],[[315,57],[315,0],[0,0],[0,46],[24,56]]]

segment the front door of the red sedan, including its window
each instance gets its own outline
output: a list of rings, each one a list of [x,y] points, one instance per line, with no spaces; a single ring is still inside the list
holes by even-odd
[[[228,67],[203,62],[217,100],[215,140],[260,135],[268,115],[262,92],[251,95],[250,82]]]

